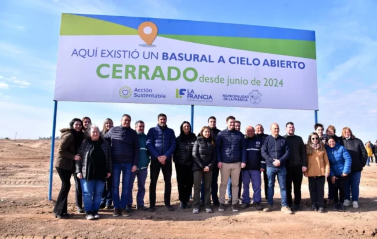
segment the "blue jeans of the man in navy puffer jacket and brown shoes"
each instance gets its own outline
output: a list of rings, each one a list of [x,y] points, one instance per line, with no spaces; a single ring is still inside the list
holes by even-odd
[[[132,163],[113,163],[113,202],[115,209],[125,209],[131,179]],[[122,195],[119,198],[120,174],[122,173]]]

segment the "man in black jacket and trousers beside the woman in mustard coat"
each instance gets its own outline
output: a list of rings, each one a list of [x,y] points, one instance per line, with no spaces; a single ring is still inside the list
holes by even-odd
[[[290,154],[287,159],[287,201],[291,210],[300,210],[302,174],[307,170],[307,157],[305,144],[302,138],[295,135],[292,122],[285,125],[287,134],[283,137],[287,142]],[[292,200],[292,183],[294,187],[294,204]]]

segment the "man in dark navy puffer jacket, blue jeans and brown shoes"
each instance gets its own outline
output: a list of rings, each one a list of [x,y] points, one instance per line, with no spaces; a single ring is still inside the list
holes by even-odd
[[[111,158],[113,160],[113,216],[130,216],[126,211],[128,187],[131,172],[135,172],[139,162],[139,139],[135,130],[131,129],[131,116],[124,114],[121,126],[115,126],[107,132],[104,139],[111,142]],[[120,174],[122,176],[122,194],[119,197]]]

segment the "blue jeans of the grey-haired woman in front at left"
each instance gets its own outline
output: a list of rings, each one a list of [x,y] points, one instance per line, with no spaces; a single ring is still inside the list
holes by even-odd
[[[84,210],[88,212],[98,212],[100,209],[103,187],[105,181],[80,179],[83,189]]]

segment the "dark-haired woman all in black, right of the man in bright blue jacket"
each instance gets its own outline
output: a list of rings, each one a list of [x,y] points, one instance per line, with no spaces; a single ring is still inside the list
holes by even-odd
[[[176,148],[173,154],[173,162],[177,174],[178,198],[181,201],[180,208],[190,208],[190,195],[193,185],[192,166],[194,160],[192,149],[196,136],[191,132],[191,125],[184,121],[181,124],[181,134],[176,138]]]

